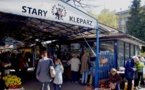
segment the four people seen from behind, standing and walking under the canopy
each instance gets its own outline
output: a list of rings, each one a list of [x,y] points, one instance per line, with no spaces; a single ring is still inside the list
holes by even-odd
[[[89,75],[89,51],[85,51],[82,56],[81,61],[77,57],[76,54],[72,55],[72,58],[68,62],[71,65],[72,72],[72,83],[78,83],[79,81],[79,68],[81,68],[82,73],[82,84],[88,83],[88,75]],[[54,62],[54,63],[53,63]],[[80,67],[81,65],[81,67]],[[56,75],[54,79],[50,74],[50,67],[54,66],[54,70]],[[52,60],[47,57],[47,52],[41,52],[41,59],[38,62],[37,70],[36,70],[36,78],[41,82],[41,90],[50,90],[49,83],[53,80],[54,90],[61,90],[61,85],[63,83],[63,72],[64,68],[61,63],[61,60],[56,59]]]

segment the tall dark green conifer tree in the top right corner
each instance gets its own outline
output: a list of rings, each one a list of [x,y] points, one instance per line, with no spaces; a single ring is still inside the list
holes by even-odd
[[[141,0],[133,0],[126,26],[128,34],[145,41],[145,13],[140,3]]]

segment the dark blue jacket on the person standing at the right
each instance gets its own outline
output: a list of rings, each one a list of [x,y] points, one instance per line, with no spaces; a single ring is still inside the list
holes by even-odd
[[[134,61],[133,59],[129,59],[127,62],[126,62],[126,65],[125,65],[125,77],[127,79],[133,79],[134,78]]]

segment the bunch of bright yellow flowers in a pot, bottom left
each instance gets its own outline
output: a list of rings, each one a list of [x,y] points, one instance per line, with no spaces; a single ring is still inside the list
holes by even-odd
[[[18,89],[22,84],[21,79],[16,75],[4,76],[3,80],[5,81],[6,87],[8,87],[9,89]]]

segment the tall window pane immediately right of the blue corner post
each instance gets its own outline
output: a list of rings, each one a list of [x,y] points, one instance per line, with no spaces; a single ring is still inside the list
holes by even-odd
[[[118,41],[118,67],[124,66],[124,42]]]

